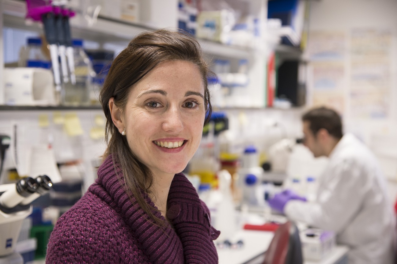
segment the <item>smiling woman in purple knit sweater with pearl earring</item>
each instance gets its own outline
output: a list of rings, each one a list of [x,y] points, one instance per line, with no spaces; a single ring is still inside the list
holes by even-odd
[[[219,231],[181,173],[212,111],[209,75],[198,42],[167,30],[116,57],[100,94],[98,179],[58,220],[46,263],[218,263]]]

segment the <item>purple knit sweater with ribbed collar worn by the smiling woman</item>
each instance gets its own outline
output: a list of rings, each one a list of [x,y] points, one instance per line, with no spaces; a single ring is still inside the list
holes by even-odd
[[[154,206],[150,198],[147,202]],[[220,232],[211,227],[208,208],[182,173],[173,178],[167,205],[180,208],[173,228],[150,224],[125,193],[109,156],[96,183],[56,223],[46,263],[218,263],[212,240]]]

